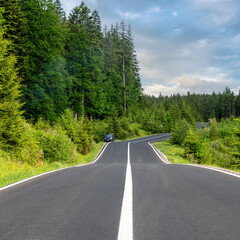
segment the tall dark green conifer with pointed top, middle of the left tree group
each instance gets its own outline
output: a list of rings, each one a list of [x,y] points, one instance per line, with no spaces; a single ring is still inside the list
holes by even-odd
[[[97,11],[84,4],[74,8],[69,17],[69,44],[66,56],[69,73],[74,76],[70,95],[75,114],[98,117],[105,111],[102,89],[104,59],[101,22]]]

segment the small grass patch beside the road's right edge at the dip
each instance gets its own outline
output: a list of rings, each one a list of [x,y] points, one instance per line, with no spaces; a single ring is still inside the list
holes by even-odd
[[[172,145],[170,140],[156,142],[154,146],[159,149],[171,163],[190,163],[190,161],[183,156],[184,149],[178,145]]]

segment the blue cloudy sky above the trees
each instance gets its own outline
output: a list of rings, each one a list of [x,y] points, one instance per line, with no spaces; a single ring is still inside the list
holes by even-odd
[[[81,0],[61,0],[67,15]],[[102,25],[132,26],[144,93],[240,90],[239,0],[85,0]]]

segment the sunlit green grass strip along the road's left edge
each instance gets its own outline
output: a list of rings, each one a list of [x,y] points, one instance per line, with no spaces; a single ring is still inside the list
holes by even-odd
[[[86,164],[92,162],[98,152],[100,151],[103,142],[94,145],[94,148],[86,156],[79,156],[79,160],[72,163],[53,162],[43,163],[37,166],[31,166],[26,163],[21,163],[11,160],[10,156],[5,153],[0,153],[0,187],[21,181],[23,179],[45,173],[60,168],[72,167],[79,164]]]

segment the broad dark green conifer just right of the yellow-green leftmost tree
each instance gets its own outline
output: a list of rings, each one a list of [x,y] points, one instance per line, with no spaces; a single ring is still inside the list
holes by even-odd
[[[65,72],[64,64],[58,65],[57,62],[64,55],[66,27],[52,0],[20,0],[20,3],[27,19],[25,46],[28,60],[25,65],[22,100],[26,103],[25,116],[32,119],[42,116],[52,120],[56,113],[55,96],[59,96],[59,92],[63,93],[62,87],[65,85],[66,88],[67,84],[66,76],[52,75],[53,71],[56,75]],[[49,66],[53,69],[49,69]],[[59,66],[62,67],[61,70]],[[55,85],[55,88],[48,85]],[[56,89],[57,86],[60,89]]]

